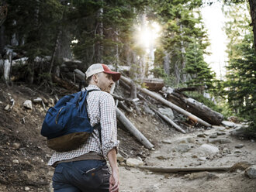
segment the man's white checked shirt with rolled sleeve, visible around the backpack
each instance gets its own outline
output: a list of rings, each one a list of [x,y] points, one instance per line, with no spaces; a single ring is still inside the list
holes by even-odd
[[[86,87],[86,89],[100,90],[99,87],[92,84]],[[99,140],[99,132],[95,129],[92,135],[89,136],[87,142],[78,149],[62,153],[54,152],[48,162],[48,166],[53,166],[54,163],[61,160],[73,159],[74,157],[89,153],[90,151],[102,153],[106,158],[111,149],[118,149],[119,141],[117,140],[116,107],[111,94],[105,91],[92,91],[88,93],[86,99],[88,103],[88,117],[90,118],[91,125],[94,126],[99,122],[101,124],[102,146]]]

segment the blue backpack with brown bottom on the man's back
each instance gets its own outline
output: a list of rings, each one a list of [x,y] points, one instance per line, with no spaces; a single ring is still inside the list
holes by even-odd
[[[96,90],[89,90],[96,91]],[[47,137],[47,146],[57,152],[65,152],[78,148],[86,142],[93,129],[87,113],[87,90],[69,94],[49,108],[45,115],[41,135]],[[98,91],[98,90],[97,90]]]

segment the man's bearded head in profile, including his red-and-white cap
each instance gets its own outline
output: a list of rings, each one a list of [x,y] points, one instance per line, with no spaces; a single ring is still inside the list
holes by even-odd
[[[88,84],[95,84],[102,91],[109,92],[114,81],[118,81],[121,74],[112,71],[105,64],[95,63],[85,72]]]

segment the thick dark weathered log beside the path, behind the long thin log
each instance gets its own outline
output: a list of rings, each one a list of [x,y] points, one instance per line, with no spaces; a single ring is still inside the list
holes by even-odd
[[[168,101],[171,101],[175,105],[178,105],[178,107],[185,109],[185,111],[189,111],[197,117],[202,118],[202,120],[209,122],[211,125],[220,125],[223,121],[223,115],[219,112],[213,111],[213,109],[208,108],[199,101],[188,98],[184,94],[176,91],[168,94]]]

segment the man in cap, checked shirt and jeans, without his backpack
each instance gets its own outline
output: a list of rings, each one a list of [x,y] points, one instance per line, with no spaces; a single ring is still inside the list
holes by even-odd
[[[78,149],[55,152],[49,166],[56,166],[53,177],[55,192],[118,192],[119,170],[116,153],[119,146],[116,129],[116,108],[109,94],[120,74],[105,64],[95,63],[85,72],[88,81],[87,110],[92,126],[100,123],[101,133],[95,129]],[[100,136],[101,135],[101,136]],[[100,139],[101,137],[101,139]],[[112,173],[106,160],[109,159]]]

